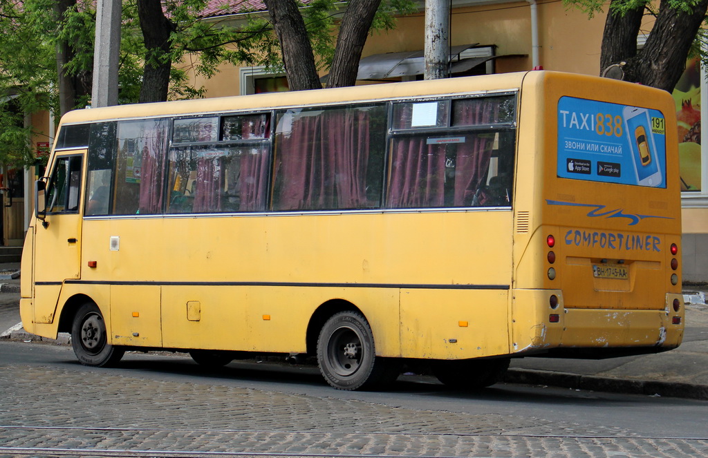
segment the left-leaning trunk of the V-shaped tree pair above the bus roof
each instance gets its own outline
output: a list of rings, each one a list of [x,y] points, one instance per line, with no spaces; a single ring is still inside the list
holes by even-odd
[[[282,62],[285,65],[290,91],[319,89],[317,67],[305,23],[293,0],[265,0],[275,35],[280,42]]]

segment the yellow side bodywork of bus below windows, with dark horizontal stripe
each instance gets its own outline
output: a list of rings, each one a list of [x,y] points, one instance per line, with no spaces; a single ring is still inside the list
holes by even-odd
[[[120,345],[298,353],[336,300],[362,311],[381,356],[499,355],[510,222],[508,210],[86,219],[97,267],[81,282],[111,284]]]

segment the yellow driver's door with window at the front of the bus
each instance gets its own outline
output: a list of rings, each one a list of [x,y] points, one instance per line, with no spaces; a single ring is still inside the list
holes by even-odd
[[[86,150],[62,151],[46,183],[44,212],[35,226],[35,323],[52,323],[64,280],[81,267],[81,180]],[[42,187],[38,183],[38,190]],[[41,208],[42,202],[38,202]],[[43,217],[43,219],[42,219]]]

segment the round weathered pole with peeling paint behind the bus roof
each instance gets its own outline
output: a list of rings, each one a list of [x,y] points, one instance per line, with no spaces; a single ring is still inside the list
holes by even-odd
[[[450,77],[450,2],[426,0],[425,79]]]

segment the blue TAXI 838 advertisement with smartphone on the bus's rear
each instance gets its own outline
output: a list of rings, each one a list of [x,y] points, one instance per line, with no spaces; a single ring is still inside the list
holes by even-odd
[[[664,115],[642,107],[561,97],[557,175],[666,188]]]

